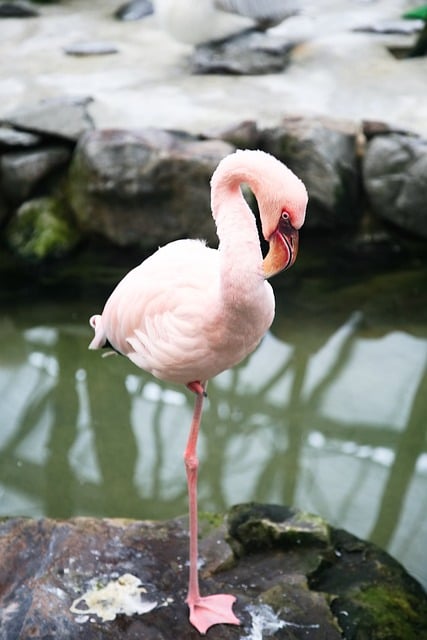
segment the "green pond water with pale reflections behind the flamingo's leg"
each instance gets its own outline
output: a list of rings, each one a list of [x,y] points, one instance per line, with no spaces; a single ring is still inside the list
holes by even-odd
[[[276,281],[271,332],[209,384],[200,508],[295,505],[379,543],[427,586],[426,284],[422,265]],[[88,351],[104,298],[29,289],[2,302],[2,516],[187,512],[193,398]]]

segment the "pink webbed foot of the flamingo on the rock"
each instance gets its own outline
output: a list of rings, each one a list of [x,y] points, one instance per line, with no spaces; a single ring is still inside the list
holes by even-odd
[[[190,609],[190,622],[202,635],[214,624],[241,624],[233,613],[236,598],[225,593],[187,599]]]

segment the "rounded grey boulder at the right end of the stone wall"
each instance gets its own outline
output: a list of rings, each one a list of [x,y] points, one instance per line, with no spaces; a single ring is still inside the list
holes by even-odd
[[[367,146],[363,177],[372,212],[427,238],[427,140],[390,133]]]

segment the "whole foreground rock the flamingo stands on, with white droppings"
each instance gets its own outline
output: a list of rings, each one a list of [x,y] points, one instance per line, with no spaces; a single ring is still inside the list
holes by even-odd
[[[200,543],[201,590],[236,595],[242,626],[218,625],[209,637],[425,636],[426,594],[374,545],[278,505],[234,507],[228,535],[212,520]],[[187,546],[180,518],[3,520],[0,640],[198,638],[185,605]]]

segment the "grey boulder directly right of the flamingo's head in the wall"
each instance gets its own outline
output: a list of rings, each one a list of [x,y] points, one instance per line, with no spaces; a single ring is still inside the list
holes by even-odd
[[[354,123],[299,117],[262,132],[262,148],[287,164],[307,187],[306,228],[356,226],[361,212],[357,134]]]

